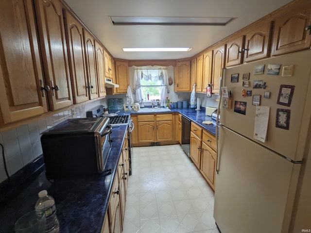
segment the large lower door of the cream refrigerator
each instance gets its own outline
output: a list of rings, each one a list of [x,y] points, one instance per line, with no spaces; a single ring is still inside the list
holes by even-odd
[[[283,224],[289,221],[300,165],[224,127],[218,150],[214,218],[220,231],[288,232]]]

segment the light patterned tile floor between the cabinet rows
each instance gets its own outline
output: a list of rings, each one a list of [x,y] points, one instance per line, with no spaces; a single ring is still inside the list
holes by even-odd
[[[219,233],[214,193],[179,145],[134,148],[123,233]]]

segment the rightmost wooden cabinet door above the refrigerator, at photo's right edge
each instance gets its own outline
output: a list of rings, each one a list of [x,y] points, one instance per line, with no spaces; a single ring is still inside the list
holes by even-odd
[[[310,25],[311,4],[308,1],[276,17],[271,54],[276,56],[310,49],[311,28],[306,30]]]

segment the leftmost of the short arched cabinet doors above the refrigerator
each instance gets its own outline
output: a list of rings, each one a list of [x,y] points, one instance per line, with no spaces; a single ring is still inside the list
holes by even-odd
[[[227,43],[227,52],[225,56],[226,67],[242,64],[244,43],[245,35],[234,38]]]

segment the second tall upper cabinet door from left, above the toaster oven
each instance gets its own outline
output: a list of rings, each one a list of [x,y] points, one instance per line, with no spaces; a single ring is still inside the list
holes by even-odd
[[[35,0],[46,83],[51,110],[72,104],[66,36],[59,0]]]

